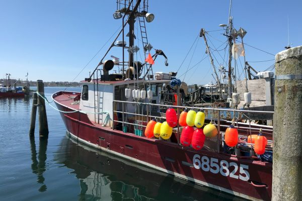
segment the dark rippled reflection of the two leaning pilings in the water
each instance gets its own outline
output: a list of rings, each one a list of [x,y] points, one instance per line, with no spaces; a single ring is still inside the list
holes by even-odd
[[[36,143],[35,143],[35,136],[30,136],[30,147],[31,147],[31,159],[32,159],[32,172],[37,174],[37,182],[41,184],[40,188],[38,189],[40,192],[44,192],[47,189],[44,181],[45,178],[43,173],[45,172],[45,161],[47,159],[46,150],[47,150],[47,143],[48,138],[41,138],[39,141],[39,153],[38,153],[38,160],[37,160],[37,151],[36,151]]]

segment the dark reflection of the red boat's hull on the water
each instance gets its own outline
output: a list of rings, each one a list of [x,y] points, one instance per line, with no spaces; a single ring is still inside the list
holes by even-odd
[[[80,200],[242,200],[97,151],[68,136],[54,160],[74,170]]]

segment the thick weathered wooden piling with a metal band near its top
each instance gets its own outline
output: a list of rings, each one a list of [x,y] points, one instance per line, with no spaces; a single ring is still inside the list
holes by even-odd
[[[302,46],[275,62],[272,200],[302,200]]]

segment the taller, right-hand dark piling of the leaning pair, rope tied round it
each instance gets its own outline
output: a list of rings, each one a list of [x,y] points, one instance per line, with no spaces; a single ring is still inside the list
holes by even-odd
[[[37,92],[44,96],[44,83],[42,80],[37,80]],[[46,116],[45,100],[38,96],[39,105],[39,135],[40,137],[48,137],[48,123]]]

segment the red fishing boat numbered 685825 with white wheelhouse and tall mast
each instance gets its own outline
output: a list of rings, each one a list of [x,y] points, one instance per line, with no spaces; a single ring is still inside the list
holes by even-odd
[[[128,16],[127,20],[125,20],[125,16]],[[173,73],[170,75],[157,73],[157,79],[153,79],[154,60],[162,55],[165,57],[166,65],[168,62],[162,50],[155,50],[153,56],[149,54],[152,46],[146,40],[145,21],[152,22],[154,15],[148,13],[148,1],[117,1],[114,18],[122,18],[123,29],[109,50],[113,47],[121,48],[123,61],[119,62],[116,57],[114,60],[103,61],[108,50],[90,77],[82,81],[82,92],[58,91],[52,95],[68,135],[95,149],[200,185],[251,200],[270,200],[272,163],[262,161],[255,156],[253,142],[247,143],[239,140],[234,152],[225,151],[229,147],[225,145],[223,136],[225,129],[233,124],[238,130],[239,138],[262,132],[271,144],[272,127],[251,126],[247,123],[239,123],[238,119],[253,113],[272,114],[272,112],[182,106],[179,92],[180,83],[177,79],[171,80]],[[133,55],[139,49],[134,45],[135,19],[140,24],[141,38],[146,53],[144,63],[133,59]],[[126,25],[129,26],[128,46],[124,40]],[[119,37],[122,40],[116,41]],[[124,61],[125,49],[128,49],[129,52],[128,62]],[[110,73],[115,66],[121,67],[120,72]],[[172,94],[172,97],[175,98],[174,104],[165,104],[161,97],[168,84],[176,87],[177,92]],[[179,124],[172,128],[167,123],[163,123],[160,138],[144,136],[144,129],[153,118],[157,122],[166,120],[164,113],[168,108],[175,109],[178,117],[181,110],[184,109],[211,113],[211,118],[204,122],[204,125],[211,125],[211,128],[209,126],[204,129],[206,138],[202,149],[195,150],[192,146],[181,144],[180,137],[183,127]],[[224,113],[232,113],[233,116],[239,118],[235,123],[222,120]],[[203,122],[201,126],[197,126],[193,116],[188,113],[187,123],[193,121],[192,125],[195,124],[197,128],[200,128]],[[202,116],[199,119],[198,121],[201,122]],[[169,123],[169,121],[167,122]],[[171,126],[171,123],[169,124]],[[209,129],[211,130],[208,131]],[[267,146],[268,148],[269,146]]]

